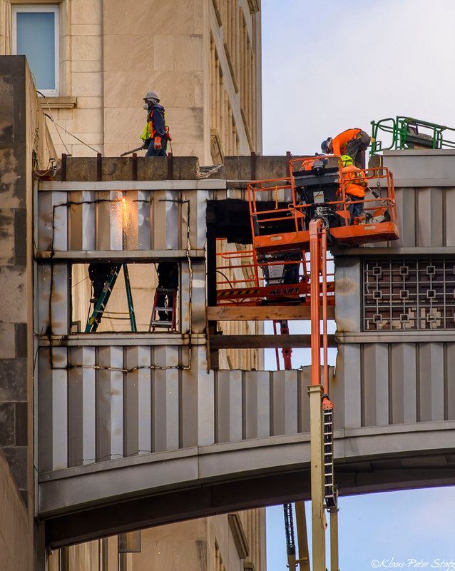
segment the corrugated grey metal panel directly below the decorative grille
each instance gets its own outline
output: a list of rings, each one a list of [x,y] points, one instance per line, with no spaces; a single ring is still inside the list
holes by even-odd
[[[455,343],[339,345],[335,428],[451,420],[454,365]]]

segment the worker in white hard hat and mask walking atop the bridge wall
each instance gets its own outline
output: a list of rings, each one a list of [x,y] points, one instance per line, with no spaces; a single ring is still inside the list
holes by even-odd
[[[169,129],[165,122],[164,107],[160,105],[160,96],[156,91],[147,91],[143,108],[147,111],[147,123],[140,138],[147,149],[145,156],[166,156],[170,141]]]

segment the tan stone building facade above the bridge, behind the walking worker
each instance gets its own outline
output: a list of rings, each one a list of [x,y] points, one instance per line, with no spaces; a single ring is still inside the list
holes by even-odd
[[[136,148],[149,89],[175,155],[213,164],[262,150],[257,0],[0,0],[0,54],[19,53],[18,12],[40,5],[55,9],[55,89],[42,106],[58,153]]]

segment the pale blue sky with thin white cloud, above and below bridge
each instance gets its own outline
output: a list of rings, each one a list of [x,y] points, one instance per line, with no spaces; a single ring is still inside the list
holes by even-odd
[[[454,29],[455,0],[262,0],[264,154],[319,151],[327,136],[389,116],[455,127]],[[455,571],[455,487],[339,503],[342,570],[384,560],[378,568]],[[269,571],[286,570],[285,553],[282,506],[272,507]]]

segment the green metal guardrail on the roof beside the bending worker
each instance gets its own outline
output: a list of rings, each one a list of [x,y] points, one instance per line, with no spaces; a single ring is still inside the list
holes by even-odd
[[[389,133],[391,142],[385,146],[382,133]],[[454,133],[454,141],[446,136]],[[369,156],[380,151],[401,148],[455,148],[455,128],[429,123],[412,117],[388,117],[372,121],[372,144]]]

